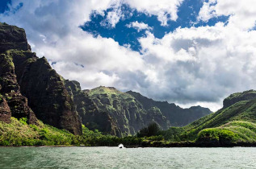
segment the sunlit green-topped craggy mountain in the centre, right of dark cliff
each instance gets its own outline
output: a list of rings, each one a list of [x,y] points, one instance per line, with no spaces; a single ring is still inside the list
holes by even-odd
[[[163,129],[170,126],[159,109],[152,107],[146,111],[130,94],[115,88],[100,86],[82,91],[77,81],[69,80],[65,86],[73,95],[82,123],[91,130],[124,136],[136,134],[150,122],[157,122]]]

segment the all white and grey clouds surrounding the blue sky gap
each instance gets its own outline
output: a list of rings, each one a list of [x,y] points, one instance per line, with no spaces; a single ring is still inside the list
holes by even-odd
[[[83,89],[115,86],[157,100],[209,105],[214,110],[230,93],[255,89],[256,31],[248,31],[256,18],[252,3],[246,6],[243,1],[237,2],[242,6],[238,9],[232,1],[217,2],[210,18],[232,14],[227,26],[217,23],[213,27],[179,27],[162,39],[147,31],[146,37],[139,39],[140,54],[128,45],[121,47],[113,39],[94,38],[78,27],[89,20],[92,10],[100,13],[114,1],[15,0],[13,8],[19,2],[23,2],[20,10],[0,14],[0,20],[25,28],[32,50],[57,62],[53,64],[57,72],[80,81]],[[127,3],[132,2],[131,6],[138,10],[157,14],[159,10],[177,11],[175,6],[181,1],[172,1],[171,5],[170,1],[150,1],[148,5],[145,1]],[[205,20],[209,19],[207,11]],[[245,14],[249,14],[248,19],[244,18]],[[203,19],[203,14],[200,17]],[[109,19],[115,25],[117,18]],[[238,18],[244,19],[241,25],[237,23]],[[139,25],[138,29],[145,28]]]

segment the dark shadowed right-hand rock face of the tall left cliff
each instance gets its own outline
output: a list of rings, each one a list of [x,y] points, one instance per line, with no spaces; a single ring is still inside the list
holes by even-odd
[[[48,61],[35,53],[10,52],[21,93],[42,122],[73,134],[82,134],[80,117],[63,79]]]

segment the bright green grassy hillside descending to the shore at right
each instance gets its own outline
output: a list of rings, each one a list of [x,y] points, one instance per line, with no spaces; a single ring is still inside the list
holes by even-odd
[[[171,127],[163,135],[176,142],[256,142],[255,123],[256,99],[239,101],[181,128]]]

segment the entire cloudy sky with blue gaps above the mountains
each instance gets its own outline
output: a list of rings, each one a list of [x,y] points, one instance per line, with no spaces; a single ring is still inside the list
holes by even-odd
[[[256,89],[255,0],[1,0],[32,51],[83,89],[213,111]]]

